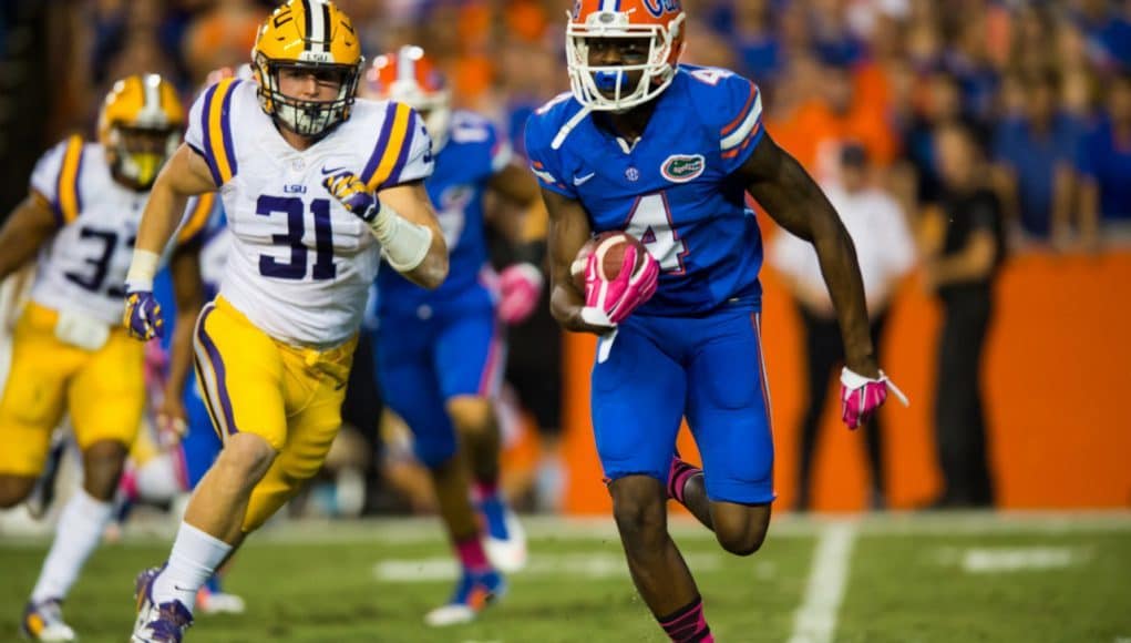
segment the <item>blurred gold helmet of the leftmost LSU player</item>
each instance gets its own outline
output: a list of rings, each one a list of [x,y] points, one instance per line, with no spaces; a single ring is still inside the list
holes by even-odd
[[[184,108],[172,83],[157,74],[114,83],[98,113],[98,142],[114,178],[147,190],[176,152],[184,129]]]

